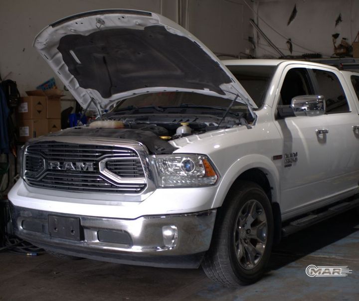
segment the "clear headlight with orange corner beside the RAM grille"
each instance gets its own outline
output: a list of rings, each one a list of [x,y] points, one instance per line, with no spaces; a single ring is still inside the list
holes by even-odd
[[[213,185],[218,179],[205,155],[171,154],[154,158],[161,187]]]

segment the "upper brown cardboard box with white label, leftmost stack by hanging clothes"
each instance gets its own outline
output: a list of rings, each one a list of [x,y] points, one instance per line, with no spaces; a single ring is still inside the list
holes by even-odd
[[[46,119],[46,109],[46,97],[21,97],[21,102],[16,110],[16,117],[18,120]]]

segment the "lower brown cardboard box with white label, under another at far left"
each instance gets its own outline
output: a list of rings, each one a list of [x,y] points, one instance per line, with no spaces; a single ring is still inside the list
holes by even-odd
[[[46,119],[25,119],[18,121],[19,141],[26,142],[31,138],[40,137],[47,134]]]

